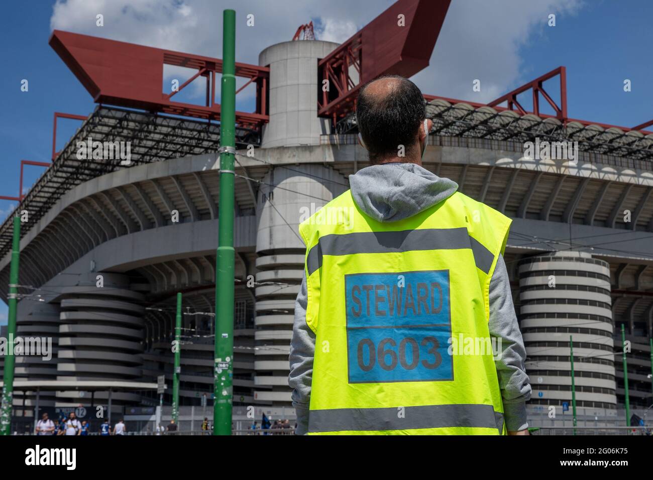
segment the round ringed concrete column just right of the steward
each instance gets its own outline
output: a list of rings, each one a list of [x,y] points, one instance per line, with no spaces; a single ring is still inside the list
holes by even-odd
[[[518,276],[532,404],[571,405],[571,335],[579,408],[616,408],[609,264],[562,251],[520,261]]]

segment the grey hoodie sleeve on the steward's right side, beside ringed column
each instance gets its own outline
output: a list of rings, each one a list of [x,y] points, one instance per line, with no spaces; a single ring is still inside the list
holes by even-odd
[[[526,400],[530,399],[531,386],[524,360],[526,349],[517,323],[508,271],[503,256],[499,255],[490,280],[490,337],[500,340],[494,363],[503,398],[505,426],[509,432],[528,428]],[[498,344],[499,345],[499,344]]]

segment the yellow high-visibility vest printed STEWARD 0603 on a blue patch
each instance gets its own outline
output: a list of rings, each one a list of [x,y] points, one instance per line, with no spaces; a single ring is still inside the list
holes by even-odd
[[[489,285],[511,219],[462,193],[394,222],[347,191],[302,222],[309,434],[505,434]]]

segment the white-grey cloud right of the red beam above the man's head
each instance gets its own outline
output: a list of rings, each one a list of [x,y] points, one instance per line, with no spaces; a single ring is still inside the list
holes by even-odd
[[[519,50],[539,39],[549,14],[575,14],[581,0],[454,0],[440,31],[427,69],[413,81],[432,95],[480,103],[490,102],[549,69],[537,59],[522,59]],[[526,65],[535,65],[526,71]],[[481,91],[472,91],[473,80]]]

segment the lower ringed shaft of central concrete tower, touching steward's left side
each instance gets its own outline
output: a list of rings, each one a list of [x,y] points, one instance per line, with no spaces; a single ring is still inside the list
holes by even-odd
[[[342,175],[321,165],[293,165],[293,170],[276,167],[261,184],[257,204],[255,400],[275,406],[291,401],[288,354],[306,253],[298,225],[340,195],[344,185]]]

